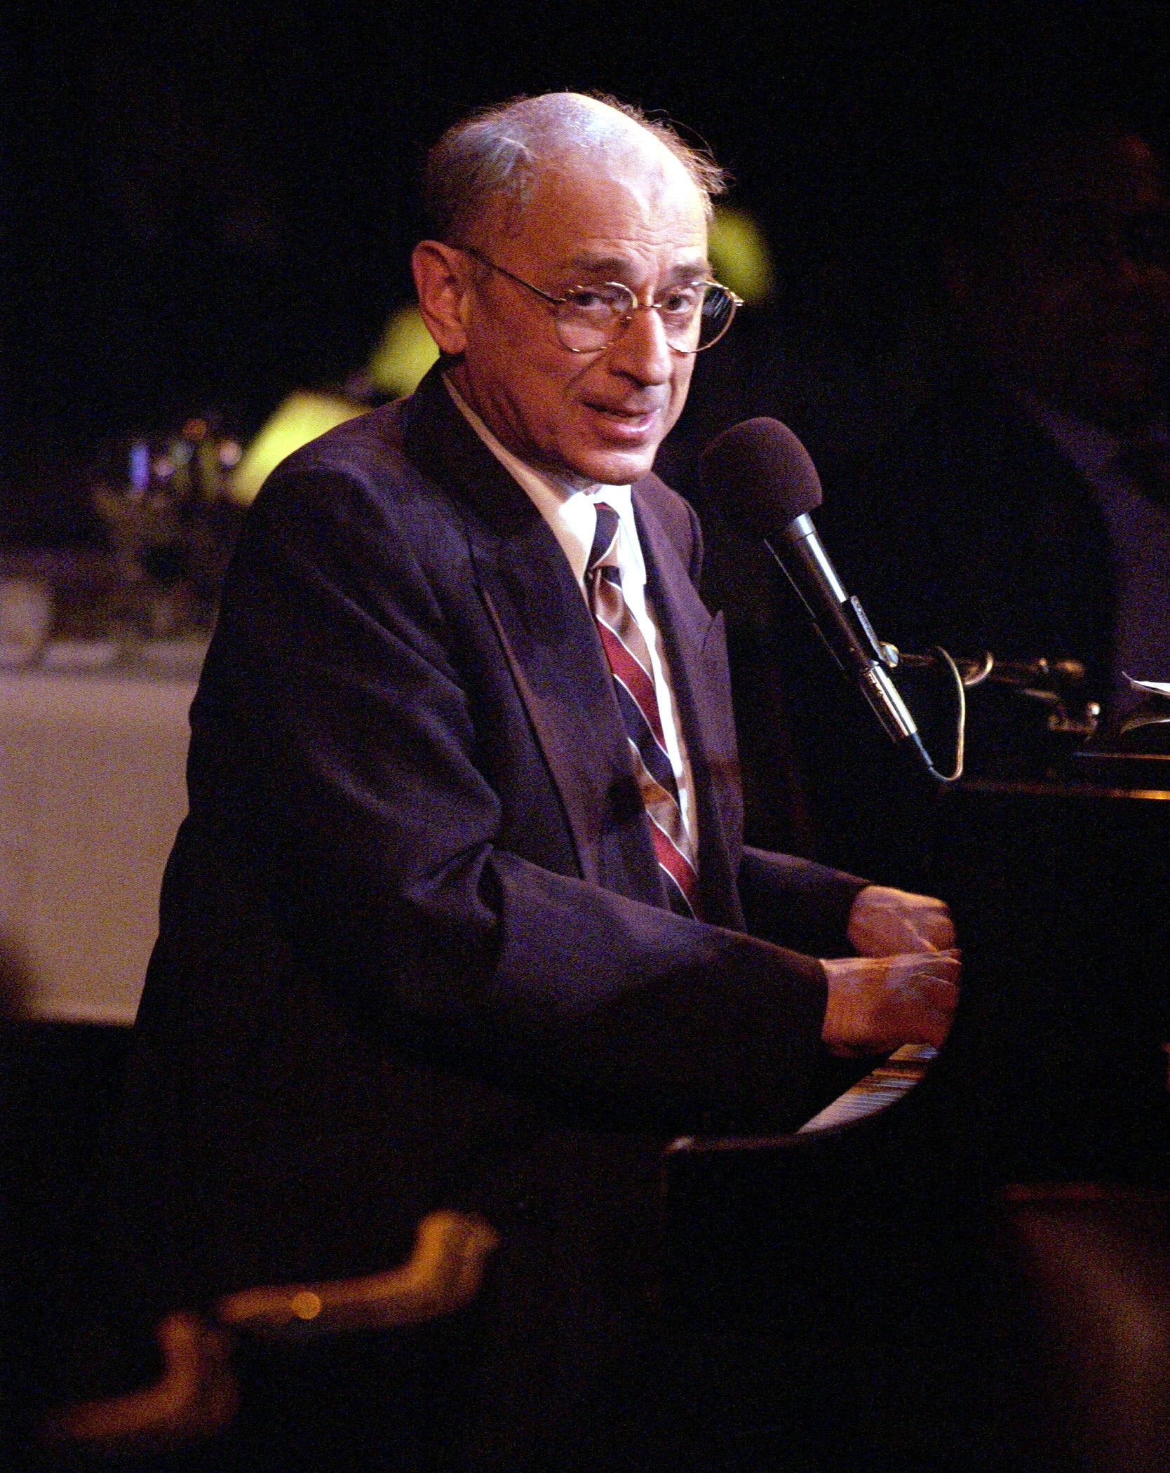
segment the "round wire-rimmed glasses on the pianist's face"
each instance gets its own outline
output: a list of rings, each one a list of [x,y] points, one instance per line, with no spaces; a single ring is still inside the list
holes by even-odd
[[[470,246],[460,246],[460,250],[556,308],[553,324],[561,348],[570,354],[597,354],[609,348],[631,317],[641,311],[659,314],[663,336],[673,352],[701,354],[719,342],[731,327],[735,309],[743,306],[728,287],[703,278],[668,287],[657,302],[640,302],[620,281],[570,286],[564,296],[553,296]]]

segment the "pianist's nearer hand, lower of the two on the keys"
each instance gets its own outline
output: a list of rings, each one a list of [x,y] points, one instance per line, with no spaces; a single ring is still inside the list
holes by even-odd
[[[821,1037],[840,1058],[891,1053],[903,1043],[940,1049],[959,999],[955,952],[821,962],[828,1006]]]

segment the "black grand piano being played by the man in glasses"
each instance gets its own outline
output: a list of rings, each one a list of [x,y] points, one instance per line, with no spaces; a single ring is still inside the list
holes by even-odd
[[[666,1153],[696,1436],[719,1423],[744,1469],[1145,1467],[1164,1407],[1102,1367],[1170,1364],[1170,757],[956,784],[931,856],[964,947],[939,1058],[884,1066],[827,1128]],[[1093,1348],[1055,1371],[1076,1314]],[[1120,1461],[1071,1427],[1080,1402]]]

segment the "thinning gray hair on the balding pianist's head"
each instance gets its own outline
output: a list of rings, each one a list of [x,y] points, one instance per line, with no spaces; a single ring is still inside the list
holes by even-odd
[[[514,209],[523,205],[541,162],[570,149],[601,152],[628,138],[631,122],[679,161],[710,218],[712,200],[726,190],[728,180],[706,149],[693,147],[669,122],[647,118],[632,103],[600,93],[544,93],[473,112],[430,150],[424,202],[435,239],[446,245],[470,240],[492,199],[502,197]]]

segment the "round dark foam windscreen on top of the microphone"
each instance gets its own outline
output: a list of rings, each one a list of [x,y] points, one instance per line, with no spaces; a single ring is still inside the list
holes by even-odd
[[[821,505],[821,477],[800,440],[780,420],[744,420],[703,451],[703,489],[732,523],[775,536]]]

